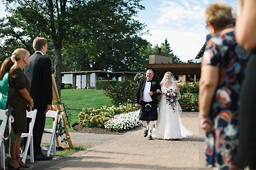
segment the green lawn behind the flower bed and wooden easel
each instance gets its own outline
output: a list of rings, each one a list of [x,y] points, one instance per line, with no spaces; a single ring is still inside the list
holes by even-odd
[[[113,105],[110,98],[103,94],[102,89],[62,89],[60,98],[66,112],[71,114],[71,128],[68,131],[73,131],[72,125],[77,123],[78,114],[82,108],[100,108]],[[46,128],[52,127],[51,121],[51,118],[46,118]]]

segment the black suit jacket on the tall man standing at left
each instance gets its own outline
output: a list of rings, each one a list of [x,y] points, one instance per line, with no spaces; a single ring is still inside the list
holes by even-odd
[[[29,65],[24,68],[24,73],[31,83],[30,96],[34,100],[34,107],[51,105],[53,88],[51,78],[51,60],[40,52],[35,52],[29,58]]]

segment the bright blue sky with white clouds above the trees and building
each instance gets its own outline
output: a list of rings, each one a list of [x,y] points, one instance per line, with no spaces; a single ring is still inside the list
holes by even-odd
[[[236,0],[225,0],[237,8]],[[181,61],[194,59],[205,43],[209,31],[205,28],[204,11],[214,0],[142,0],[145,10],[138,12],[138,21],[145,23],[149,35],[143,35],[152,45],[164,43]],[[0,1],[0,18],[6,16]]]

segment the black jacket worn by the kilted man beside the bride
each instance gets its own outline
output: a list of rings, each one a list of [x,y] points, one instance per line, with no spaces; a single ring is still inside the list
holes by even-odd
[[[144,91],[146,82],[147,80],[140,81],[140,84],[138,85],[138,89],[135,94],[135,103],[140,104],[141,100],[143,100],[143,91]],[[161,90],[161,86],[159,84],[159,81],[153,79],[150,87],[150,92],[153,92],[153,95],[151,96],[151,98],[154,104],[158,104],[158,96],[161,95],[161,93],[156,93],[156,89]]]

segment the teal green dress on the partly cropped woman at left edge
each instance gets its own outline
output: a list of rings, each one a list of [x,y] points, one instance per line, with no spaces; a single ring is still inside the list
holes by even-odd
[[[0,109],[6,109],[6,101],[8,98],[8,72],[4,74],[0,80]]]

